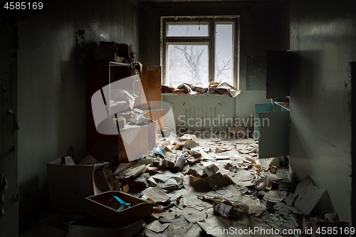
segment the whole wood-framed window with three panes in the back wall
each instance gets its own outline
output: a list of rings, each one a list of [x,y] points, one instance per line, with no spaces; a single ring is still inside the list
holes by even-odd
[[[163,83],[226,82],[238,87],[239,16],[168,17],[161,21]]]

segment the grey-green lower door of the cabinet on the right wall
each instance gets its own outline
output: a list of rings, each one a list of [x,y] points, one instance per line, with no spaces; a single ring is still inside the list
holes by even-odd
[[[258,113],[259,158],[289,155],[289,111]]]

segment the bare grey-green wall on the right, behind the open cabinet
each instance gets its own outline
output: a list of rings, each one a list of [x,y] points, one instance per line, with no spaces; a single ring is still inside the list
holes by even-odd
[[[290,85],[290,164],[299,180],[309,175],[328,190],[342,221],[351,221],[355,7],[355,1],[290,1],[290,51],[298,58]]]

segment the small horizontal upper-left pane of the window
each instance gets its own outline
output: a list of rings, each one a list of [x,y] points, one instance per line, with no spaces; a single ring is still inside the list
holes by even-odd
[[[167,36],[209,36],[208,23],[167,23]]]

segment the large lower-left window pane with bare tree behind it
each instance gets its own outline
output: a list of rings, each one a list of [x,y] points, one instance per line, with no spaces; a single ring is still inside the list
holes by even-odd
[[[167,45],[166,82],[174,87],[182,83],[209,83],[208,43]]]

